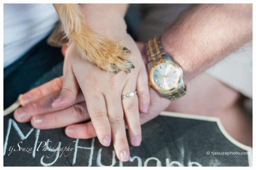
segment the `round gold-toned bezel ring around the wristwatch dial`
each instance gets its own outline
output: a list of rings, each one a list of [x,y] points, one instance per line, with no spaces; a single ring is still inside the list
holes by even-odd
[[[158,88],[158,87],[155,85],[155,82],[152,80],[152,73],[153,73],[154,68],[155,68],[156,66],[158,66],[159,64],[162,64],[162,63],[171,64],[171,65],[173,65],[173,67],[175,67],[176,69],[180,70],[178,82],[175,84],[175,86],[174,86],[173,88],[168,89],[168,90],[163,90],[163,89]],[[169,61],[169,60],[167,60],[167,61],[159,61],[159,62],[155,63],[155,64],[151,67],[151,69],[150,69],[150,73],[149,73],[149,80],[150,80],[150,83],[151,83],[151,85],[152,85],[156,90],[161,91],[161,92],[170,92],[170,91],[176,89],[176,88],[179,86],[181,79],[182,79],[182,69],[181,69],[180,66],[178,66],[176,63],[174,63],[174,62],[172,62],[172,61]]]

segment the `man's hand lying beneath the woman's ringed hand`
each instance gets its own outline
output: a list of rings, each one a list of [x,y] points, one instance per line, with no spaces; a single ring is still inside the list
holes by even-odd
[[[138,43],[137,45],[142,53],[144,63],[147,64],[145,44]],[[62,84],[63,77],[58,77],[25,93],[20,100],[23,107],[14,112],[14,118],[21,123],[31,121],[32,126],[38,129],[52,129],[67,126],[65,132],[71,138],[86,139],[96,137],[96,131],[91,121],[81,123],[90,120],[81,90],[79,90],[75,101],[67,105],[67,107],[52,107],[52,102],[61,93]],[[162,98],[153,89],[150,89],[150,98],[148,112],[139,114],[140,124],[146,123],[158,116],[170,104],[168,99]],[[22,112],[25,114],[23,114],[23,117],[20,117],[22,115],[20,113]],[[126,128],[128,128],[127,121]]]

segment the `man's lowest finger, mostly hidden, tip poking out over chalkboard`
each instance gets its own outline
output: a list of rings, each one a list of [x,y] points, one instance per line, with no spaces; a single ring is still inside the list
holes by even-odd
[[[70,138],[89,139],[96,137],[96,131],[92,122],[67,126],[65,133]]]

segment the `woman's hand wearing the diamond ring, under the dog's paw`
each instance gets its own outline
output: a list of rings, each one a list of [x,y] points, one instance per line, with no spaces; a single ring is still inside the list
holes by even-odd
[[[124,38],[124,41],[126,42],[126,47],[133,54],[133,63],[136,65],[136,68],[132,69],[130,74],[125,71],[120,71],[118,74],[107,73],[96,65],[82,60],[77,53],[75,44],[71,42],[67,48],[64,61],[64,81],[61,94],[52,103],[52,107],[63,109],[72,105],[77,98],[80,87],[86,99],[89,116],[99,141],[101,144],[109,146],[112,136],[117,157],[127,161],[130,153],[126,139],[123,112],[127,120],[130,143],[133,146],[138,146],[141,142],[139,108],[140,111],[147,112],[150,97],[147,71],[140,52],[129,35]],[[135,95],[134,97],[121,99],[121,96],[135,90],[138,97]],[[45,102],[47,101],[45,100]],[[85,107],[85,105],[76,105],[76,109],[79,107]],[[19,109],[15,115],[18,115],[18,113]],[[27,117],[27,120],[21,120],[20,117],[15,118],[19,122],[29,120],[29,117]],[[78,121],[75,118],[77,117],[73,117],[73,121]],[[85,118],[89,119],[88,115],[83,117],[82,120]],[[67,121],[65,117],[62,117],[61,120],[64,124]],[[40,123],[42,123],[42,117],[33,117],[33,126],[37,126]],[[60,123],[60,126],[63,123]]]

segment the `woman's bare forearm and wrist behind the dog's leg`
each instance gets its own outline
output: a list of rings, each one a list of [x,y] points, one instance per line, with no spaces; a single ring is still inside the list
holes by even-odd
[[[86,24],[109,39],[126,33],[124,16],[128,4],[80,4]]]

